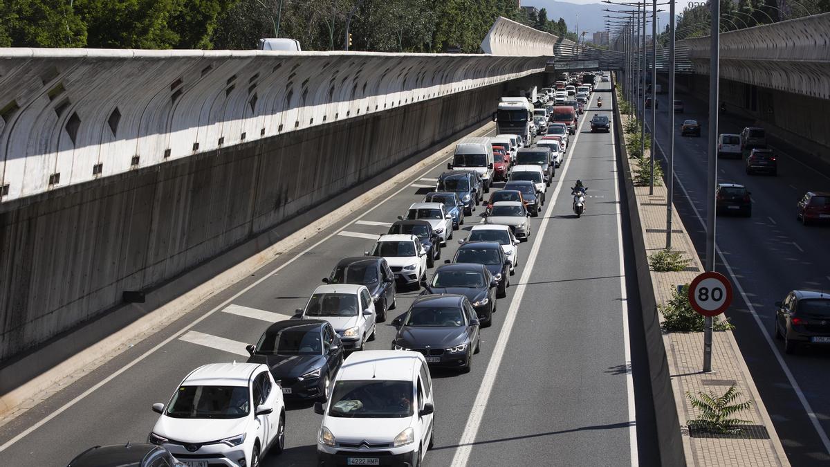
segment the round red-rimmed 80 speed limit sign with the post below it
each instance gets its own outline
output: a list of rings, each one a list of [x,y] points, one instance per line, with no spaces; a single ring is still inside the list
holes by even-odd
[[[721,273],[702,273],[689,284],[689,303],[710,321],[732,303],[732,284]],[[712,371],[712,326],[704,327],[703,332],[703,372],[709,373]]]

